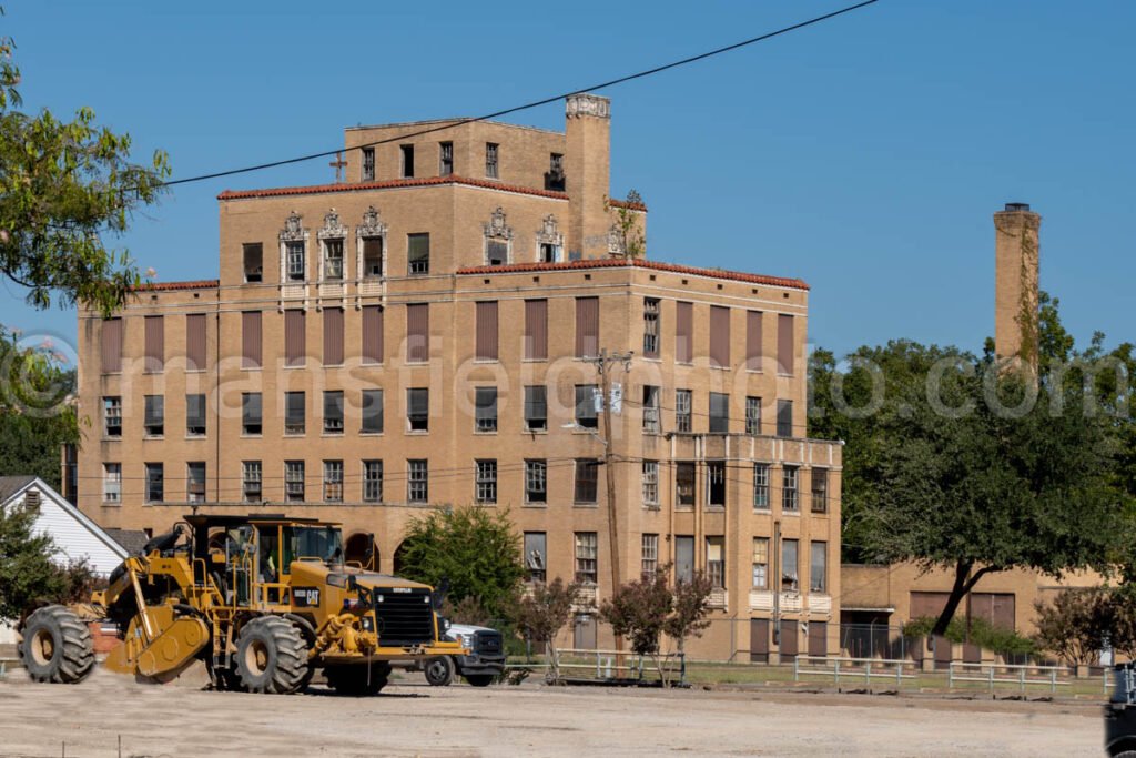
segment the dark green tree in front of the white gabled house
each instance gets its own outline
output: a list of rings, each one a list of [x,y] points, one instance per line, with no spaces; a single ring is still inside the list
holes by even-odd
[[[0,620],[16,620],[68,591],[66,574],[51,561],[55,543],[36,534],[39,508],[0,508]]]

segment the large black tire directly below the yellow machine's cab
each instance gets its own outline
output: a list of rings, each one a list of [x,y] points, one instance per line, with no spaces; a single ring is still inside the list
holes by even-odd
[[[279,616],[260,616],[245,624],[234,659],[241,688],[249,692],[291,694],[308,675],[303,634]]]

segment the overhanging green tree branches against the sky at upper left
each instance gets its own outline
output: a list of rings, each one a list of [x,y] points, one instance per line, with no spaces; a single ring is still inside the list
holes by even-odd
[[[2,14],[0,9],[0,14]],[[0,272],[27,302],[80,303],[109,314],[141,283],[125,250],[107,247],[135,211],[157,201],[169,175],[164,152],[130,160],[131,138],[80,108],[72,122],[19,110],[15,43],[0,38]]]

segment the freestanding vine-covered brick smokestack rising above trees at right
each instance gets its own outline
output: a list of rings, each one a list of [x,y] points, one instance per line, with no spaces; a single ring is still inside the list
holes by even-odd
[[[1041,226],[1042,217],[1024,202],[994,214],[994,351],[1035,375]]]

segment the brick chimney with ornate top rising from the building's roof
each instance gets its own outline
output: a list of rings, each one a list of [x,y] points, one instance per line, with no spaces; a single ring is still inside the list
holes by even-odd
[[[611,191],[611,100],[596,94],[574,94],[565,106],[568,251],[573,257],[605,258],[610,226],[604,200]]]

